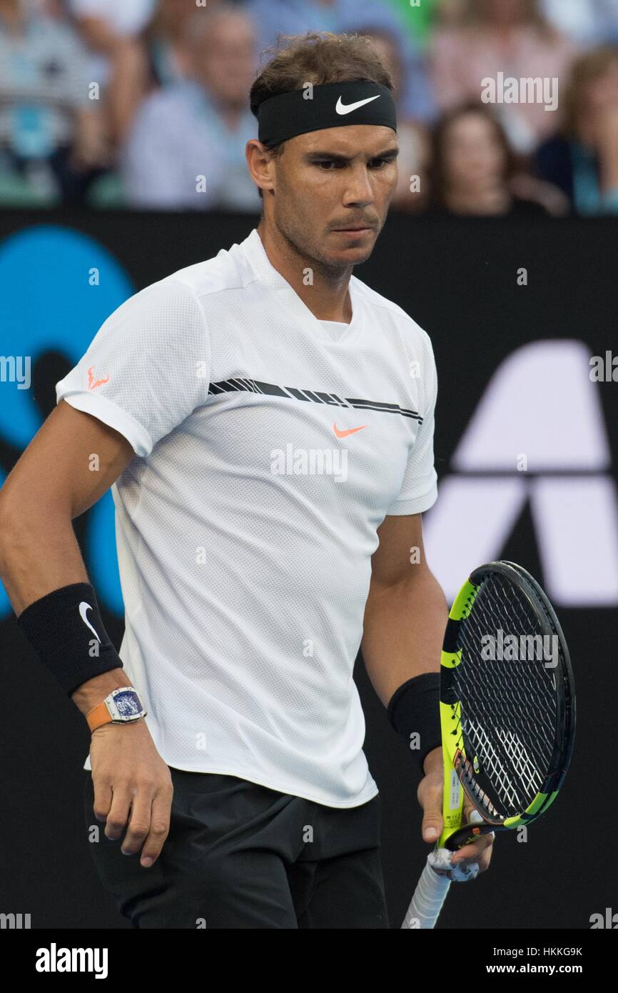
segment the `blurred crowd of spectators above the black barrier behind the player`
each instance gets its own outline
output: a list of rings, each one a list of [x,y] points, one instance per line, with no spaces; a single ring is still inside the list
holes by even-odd
[[[249,89],[308,30],[393,75],[396,209],[618,213],[618,0],[0,0],[0,207],[259,213]]]

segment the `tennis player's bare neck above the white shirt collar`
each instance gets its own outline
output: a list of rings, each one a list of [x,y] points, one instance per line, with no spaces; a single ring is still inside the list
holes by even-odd
[[[301,255],[281,231],[264,217],[257,230],[271,265],[290,283],[313,317],[318,321],[342,321],[349,324],[352,319],[352,305],[348,286],[353,267],[349,265],[344,269],[326,269],[315,259]],[[305,283],[307,269],[312,270],[310,286]]]

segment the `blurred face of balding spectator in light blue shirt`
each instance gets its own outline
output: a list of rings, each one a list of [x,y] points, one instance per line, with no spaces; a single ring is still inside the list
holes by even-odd
[[[242,14],[215,20],[195,42],[193,74],[224,103],[247,103],[255,61],[255,35]]]

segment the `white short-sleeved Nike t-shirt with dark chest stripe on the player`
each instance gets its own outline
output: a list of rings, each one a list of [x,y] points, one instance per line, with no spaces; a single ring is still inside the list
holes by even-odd
[[[129,298],[57,396],[127,438],[120,656],[165,762],[351,807],[376,528],[427,510],[426,333],[355,276],[318,321],[257,229]],[[89,769],[89,757],[84,766]]]

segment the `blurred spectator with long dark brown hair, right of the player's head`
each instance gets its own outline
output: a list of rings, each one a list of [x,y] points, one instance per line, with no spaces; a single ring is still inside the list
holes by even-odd
[[[517,161],[503,127],[483,103],[448,111],[433,133],[431,213],[543,216],[513,193]]]

